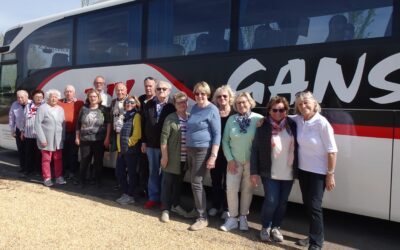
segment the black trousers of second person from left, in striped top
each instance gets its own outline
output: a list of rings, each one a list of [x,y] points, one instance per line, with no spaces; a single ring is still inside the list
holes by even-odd
[[[42,154],[37,147],[36,138],[25,138],[25,161],[28,173],[42,173]]]

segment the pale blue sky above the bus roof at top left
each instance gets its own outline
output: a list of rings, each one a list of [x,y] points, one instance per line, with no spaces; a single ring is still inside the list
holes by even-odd
[[[0,0],[0,33],[39,17],[81,7],[81,0]]]

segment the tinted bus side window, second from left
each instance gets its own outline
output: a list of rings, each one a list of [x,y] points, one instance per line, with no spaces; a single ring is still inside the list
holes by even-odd
[[[140,58],[141,5],[96,12],[78,18],[77,63]]]

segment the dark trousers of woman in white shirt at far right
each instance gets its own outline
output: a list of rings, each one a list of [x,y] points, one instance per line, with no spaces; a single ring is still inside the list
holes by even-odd
[[[324,243],[324,220],[322,198],[325,192],[326,175],[299,169],[299,184],[303,203],[310,223],[310,244],[322,247]]]

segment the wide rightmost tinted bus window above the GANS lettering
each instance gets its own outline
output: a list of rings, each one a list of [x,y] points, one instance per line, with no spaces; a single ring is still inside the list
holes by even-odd
[[[240,1],[242,50],[390,36],[392,0]]]

